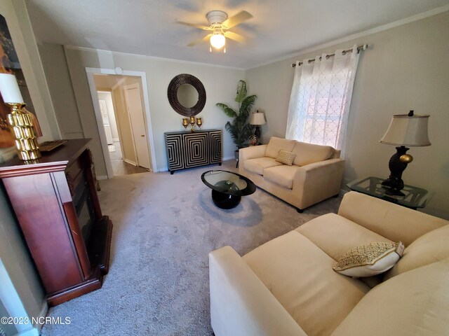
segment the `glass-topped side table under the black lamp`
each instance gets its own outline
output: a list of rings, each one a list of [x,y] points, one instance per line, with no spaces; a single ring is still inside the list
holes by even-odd
[[[431,193],[427,190],[408,185],[405,185],[403,190],[401,190],[404,196],[390,195],[388,188],[382,186],[382,181],[384,179],[370,176],[349,182],[347,187],[351,190],[358,191],[358,193],[377,197],[415,210],[417,208],[424,208],[431,197]]]

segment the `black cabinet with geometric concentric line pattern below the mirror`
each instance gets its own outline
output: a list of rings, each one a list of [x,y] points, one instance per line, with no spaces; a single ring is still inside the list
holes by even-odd
[[[170,174],[214,163],[222,165],[221,130],[166,132],[164,137]]]

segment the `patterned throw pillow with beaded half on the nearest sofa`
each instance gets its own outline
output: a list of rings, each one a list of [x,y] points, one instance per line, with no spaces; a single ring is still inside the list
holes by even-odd
[[[393,267],[403,251],[401,241],[397,244],[380,242],[357,246],[344,253],[333,269],[347,276],[373,276]]]

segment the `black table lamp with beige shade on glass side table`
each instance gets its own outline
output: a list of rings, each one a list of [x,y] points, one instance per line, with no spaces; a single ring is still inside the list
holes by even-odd
[[[402,173],[407,165],[413,161],[413,156],[406,152],[408,147],[430,146],[427,134],[429,115],[415,115],[413,111],[408,114],[398,114],[393,116],[384,137],[380,140],[382,144],[394,145],[396,153],[391,156],[388,167],[390,176],[382,182],[382,186],[387,187],[391,195],[403,195],[404,188]],[[408,146],[408,147],[406,147]]]

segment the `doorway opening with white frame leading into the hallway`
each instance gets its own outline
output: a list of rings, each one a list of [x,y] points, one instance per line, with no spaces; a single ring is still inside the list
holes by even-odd
[[[95,71],[100,70],[100,71]],[[152,172],[155,158],[143,75],[86,68],[108,178]]]

